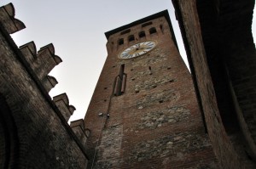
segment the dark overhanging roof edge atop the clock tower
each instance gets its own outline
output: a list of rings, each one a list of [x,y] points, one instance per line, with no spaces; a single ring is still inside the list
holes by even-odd
[[[171,33],[172,33],[172,40],[173,40],[173,42],[175,43],[175,45],[176,45],[176,47],[177,47],[176,38],[175,38],[175,35],[174,35],[174,31],[173,31],[173,29],[172,29],[172,22],[171,22],[171,20],[170,20],[170,16],[169,16],[169,13],[168,13],[168,10],[167,10],[167,9],[166,9],[166,10],[163,10],[163,11],[161,11],[161,12],[159,12],[159,13],[149,15],[149,16],[143,18],[143,19],[140,19],[140,20],[136,20],[136,21],[134,21],[134,22],[131,22],[130,24],[122,25],[122,26],[120,26],[120,27],[118,27],[118,28],[116,28],[116,29],[113,29],[112,31],[107,31],[107,32],[105,32],[105,36],[106,36],[107,39],[108,39],[111,35],[113,35],[113,34],[119,32],[119,31],[124,31],[124,30],[126,30],[126,29],[128,29],[128,28],[130,28],[130,27],[132,27],[132,26],[134,26],[134,25],[139,25],[139,24],[142,24],[142,23],[147,22],[147,21],[149,21],[149,20],[154,20],[154,19],[160,18],[160,17],[162,17],[162,16],[164,16],[164,17],[166,18],[167,22],[168,22],[168,25],[169,25],[169,27],[170,27],[170,31],[171,31]]]

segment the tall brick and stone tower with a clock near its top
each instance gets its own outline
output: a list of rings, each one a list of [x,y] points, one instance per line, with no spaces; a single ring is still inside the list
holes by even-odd
[[[218,168],[168,12],[105,35],[84,118],[89,168]]]

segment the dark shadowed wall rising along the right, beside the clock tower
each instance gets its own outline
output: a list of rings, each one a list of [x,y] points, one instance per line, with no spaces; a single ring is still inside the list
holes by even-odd
[[[254,168],[253,1],[172,3],[215,155],[222,168]]]

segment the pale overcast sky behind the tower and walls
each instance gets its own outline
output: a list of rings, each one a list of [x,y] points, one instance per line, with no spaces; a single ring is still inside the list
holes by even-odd
[[[71,121],[84,118],[108,55],[104,32],[168,9],[180,53],[186,57],[172,0],[0,0],[0,6],[7,3],[14,4],[15,18],[26,25],[12,35],[16,44],[34,41],[39,50],[53,43],[63,60],[49,74],[59,82],[49,94],[67,93],[77,109]],[[255,22],[253,18],[253,31]]]

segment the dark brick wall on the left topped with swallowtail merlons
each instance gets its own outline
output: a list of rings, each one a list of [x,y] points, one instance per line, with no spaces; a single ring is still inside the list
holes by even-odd
[[[9,34],[25,27],[12,3],[0,8],[0,168],[86,168],[83,140],[67,124],[75,107],[66,93],[49,96],[58,82],[48,74],[62,60],[52,43],[18,48]]]

